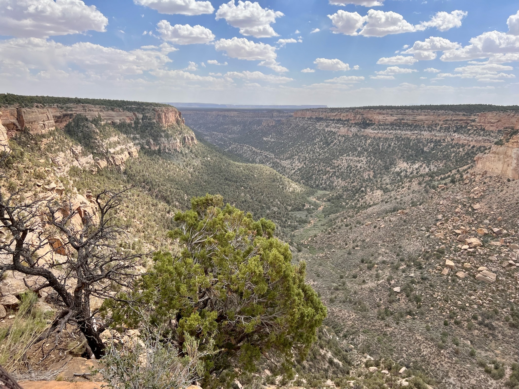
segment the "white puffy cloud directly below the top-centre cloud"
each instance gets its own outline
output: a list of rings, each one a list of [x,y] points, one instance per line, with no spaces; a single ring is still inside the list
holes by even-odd
[[[276,47],[265,43],[254,43],[247,38],[220,39],[215,41],[216,51],[225,51],[231,58],[239,60],[275,60],[277,57]]]

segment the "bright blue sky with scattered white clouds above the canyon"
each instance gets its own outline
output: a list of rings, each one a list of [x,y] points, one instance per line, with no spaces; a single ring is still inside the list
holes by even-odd
[[[0,91],[517,104],[517,1],[0,0]]]

